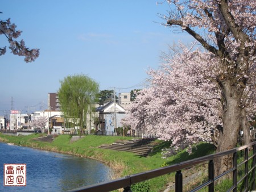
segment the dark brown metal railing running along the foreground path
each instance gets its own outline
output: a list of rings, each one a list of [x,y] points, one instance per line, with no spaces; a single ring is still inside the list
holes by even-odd
[[[249,156],[249,148],[253,148],[252,155]],[[244,152],[242,151],[244,150]],[[238,152],[244,153],[244,159],[240,164],[238,164]],[[232,168],[226,170],[226,172],[214,177],[214,158],[223,157],[227,155],[233,155],[233,166]],[[249,170],[249,161],[251,162],[251,169]],[[243,145],[242,147],[230,149],[229,151],[220,152],[204,157],[195,158],[193,160],[180,162],[175,165],[166,166],[164,168],[148,170],[147,172],[133,174],[131,176],[126,176],[123,178],[119,178],[117,180],[112,180],[108,182],[101,182],[94,185],[89,185],[85,187],[80,187],[77,189],[69,190],[69,191],[113,191],[117,189],[123,188],[123,191],[131,191],[131,185],[149,180],[151,178],[163,176],[164,174],[173,173],[175,174],[175,191],[181,192],[183,191],[183,175],[181,170],[186,168],[191,168],[191,166],[195,166],[201,164],[203,162],[208,162],[208,180],[203,184],[197,186],[195,189],[191,191],[199,191],[204,187],[208,187],[208,191],[214,191],[214,182],[220,180],[220,178],[226,176],[227,174],[233,175],[233,185],[227,191],[237,191],[238,185],[242,182],[244,183],[243,191],[255,190],[255,164],[256,164],[256,141]],[[244,174],[239,181],[237,181],[238,176],[238,168],[242,166],[245,167]],[[250,176],[250,181],[249,181]]]

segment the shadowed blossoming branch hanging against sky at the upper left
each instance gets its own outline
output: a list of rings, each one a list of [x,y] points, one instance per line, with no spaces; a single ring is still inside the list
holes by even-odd
[[[1,13],[1,12],[0,12]],[[5,35],[9,41],[9,48],[14,55],[24,56],[24,61],[35,61],[39,56],[39,49],[30,49],[25,45],[24,40],[17,41],[22,31],[16,30],[16,25],[10,19],[0,20],[0,35]],[[6,53],[6,47],[0,47],[0,56]]]

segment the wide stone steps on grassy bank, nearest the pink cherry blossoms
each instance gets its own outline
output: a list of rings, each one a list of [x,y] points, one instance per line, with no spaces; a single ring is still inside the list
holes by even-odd
[[[101,145],[100,148],[132,152],[146,157],[152,152],[154,147],[152,141],[154,140],[155,139],[133,139],[128,141],[117,141],[111,145]]]

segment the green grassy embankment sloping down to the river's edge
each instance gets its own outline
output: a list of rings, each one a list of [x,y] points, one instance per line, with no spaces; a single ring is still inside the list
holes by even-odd
[[[158,142],[158,146],[154,148],[152,155],[148,157],[141,157],[130,152],[113,151],[109,149],[98,148],[102,144],[112,144],[117,140],[129,140],[131,137],[112,137],[112,136],[85,136],[82,139],[70,143],[71,136],[60,135],[53,140],[52,143],[40,142],[33,140],[36,137],[43,136],[43,134],[32,134],[28,136],[10,136],[0,133],[0,141],[5,143],[14,143],[15,145],[22,145],[47,151],[54,151],[60,153],[67,153],[82,157],[93,158],[108,164],[114,170],[113,178],[127,176],[144,172],[151,169],[160,168],[175,164],[177,162],[186,161],[196,157],[208,155],[214,152],[213,146],[202,143],[197,146],[192,155],[188,155],[183,151],[175,156],[162,158],[162,149],[169,147],[170,144],[163,141]],[[143,187],[150,186],[150,191],[163,190],[166,183],[170,180],[174,181],[174,174],[167,174],[162,177],[154,178],[147,181]]]

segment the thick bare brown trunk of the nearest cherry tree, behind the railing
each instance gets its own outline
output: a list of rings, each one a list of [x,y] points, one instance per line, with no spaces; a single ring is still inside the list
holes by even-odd
[[[222,88],[222,121],[220,140],[216,152],[223,152],[235,148],[238,131],[241,125],[241,95],[242,88],[231,81],[221,82]],[[232,167],[232,155],[219,157],[215,161],[215,174],[220,175]]]

